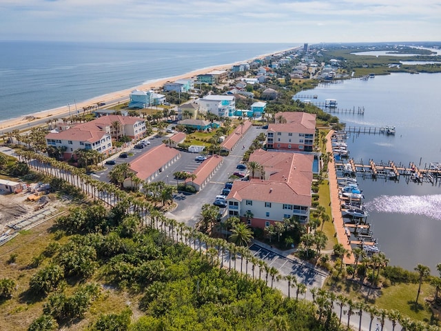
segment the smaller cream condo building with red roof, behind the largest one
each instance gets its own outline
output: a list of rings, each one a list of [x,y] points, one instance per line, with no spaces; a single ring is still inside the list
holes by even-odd
[[[316,114],[278,112],[267,130],[267,148],[312,152],[316,133]]]

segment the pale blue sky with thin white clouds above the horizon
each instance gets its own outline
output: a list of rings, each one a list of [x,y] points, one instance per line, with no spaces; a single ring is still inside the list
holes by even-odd
[[[0,0],[0,40],[441,41],[441,1]]]

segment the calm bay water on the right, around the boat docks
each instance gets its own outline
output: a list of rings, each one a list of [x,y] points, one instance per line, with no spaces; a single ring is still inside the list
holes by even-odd
[[[347,141],[349,157],[354,161],[369,159],[376,163],[410,162],[427,168],[441,162],[439,126],[441,74],[397,73],[376,76],[367,81],[348,80],[320,85],[314,92],[318,99],[336,99],[338,108],[364,107],[365,114],[332,112],[347,126],[380,128],[396,126],[395,135],[351,134]],[[429,265],[433,274],[441,263],[441,183],[409,183],[363,179],[358,176],[379,248],[391,265],[408,270],[418,264]]]

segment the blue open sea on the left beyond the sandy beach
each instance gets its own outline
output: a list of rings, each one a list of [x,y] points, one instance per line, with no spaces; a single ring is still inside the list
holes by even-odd
[[[297,46],[0,41],[0,121]]]

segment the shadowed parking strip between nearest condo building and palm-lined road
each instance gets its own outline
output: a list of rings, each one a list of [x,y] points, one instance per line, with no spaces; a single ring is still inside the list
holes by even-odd
[[[255,257],[265,261],[270,267],[279,270],[280,274],[294,274],[298,281],[302,281],[308,287],[321,288],[327,274],[311,268],[305,262],[298,262],[292,259],[287,259],[282,255],[271,252],[260,245],[253,244],[249,250],[254,253]]]

